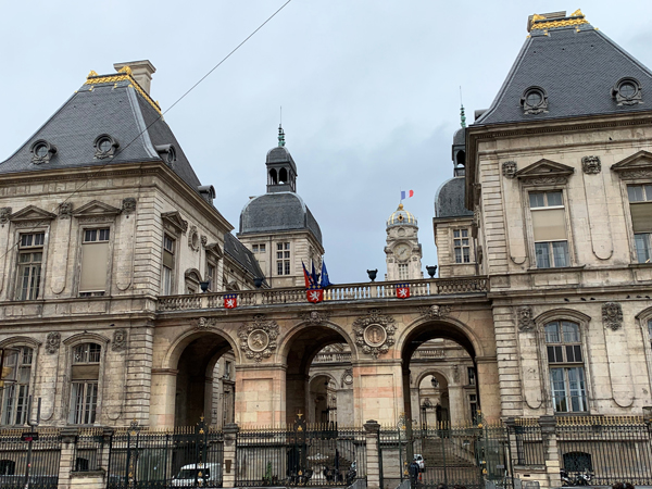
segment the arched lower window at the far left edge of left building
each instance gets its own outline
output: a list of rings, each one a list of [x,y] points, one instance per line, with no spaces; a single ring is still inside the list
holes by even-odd
[[[27,423],[33,355],[34,350],[29,347],[18,347],[5,352],[4,367],[10,369],[7,377],[14,379],[15,384],[8,383],[3,389],[3,425],[24,425]]]

